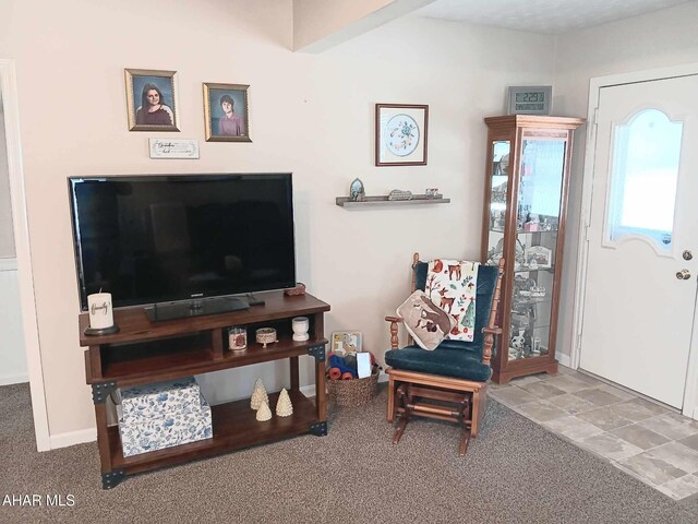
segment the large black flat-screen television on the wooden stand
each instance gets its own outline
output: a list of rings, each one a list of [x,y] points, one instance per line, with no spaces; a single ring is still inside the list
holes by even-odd
[[[170,320],[296,286],[291,174],[70,177],[69,189],[83,311],[101,290]]]

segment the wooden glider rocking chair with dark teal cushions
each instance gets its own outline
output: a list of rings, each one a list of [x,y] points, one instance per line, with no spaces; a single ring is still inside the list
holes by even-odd
[[[419,253],[412,261],[412,290],[424,290],[428,263]],[[413,343],[398,349],[399,317],[386,317],[390,322],[390,350],[385,354],[389,366],[387,421],[399,422],[393,437],[397,444],[413,416],[436,418],[462,425],[459,455],[468,450],[470,437],[477,437],[486,407],[490,380],[490,358],[494,335],[504,260],[498,266],[480,265],[476,301],[476,334],[472,342],[443,341],[433,352]]]

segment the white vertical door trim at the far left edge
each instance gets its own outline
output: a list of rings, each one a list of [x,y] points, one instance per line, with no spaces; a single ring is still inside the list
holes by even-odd
[[[32,410],[34,413],[34,432],[37,450],[48,451],[51,445],[34,295],[34,273],[32,271],[32,250],[26,213],[26,193],[24,191],[24,168],[20,143],[20,106],[14,60],[0,59],[0,92],[2,93],[4,109],[14,248],[17,260],[20,305],[22,308],[22,327],[32,393]]]

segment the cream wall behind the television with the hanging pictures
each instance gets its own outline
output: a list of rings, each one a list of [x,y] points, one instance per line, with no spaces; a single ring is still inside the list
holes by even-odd
[[[309,56],[290,51],[290,0],[106,5],[0,3],[0,57],[16,59],[55,442],[94,427],[79,347],[67,177],[293,171],[299,281],[332,305],[327,333],[363,331],[366,347],[382,360],[389,340],[382,319],[406,297],[412,251],[479,255],[482,118],[503,111],[507,85],[553,80],[553,39],[526,33],[407,17]],[[166,134],[128,131],[124,68],[178,71],[177,136],[201,141],[200,160],[148,158],[147,138]],[[204,142],[202,82],[251,85],[251,144]],[[430,105],[428,166],[373,167],[375,103]],[[356,177],[369,194],[436,187],[453,203],[348,212],[334,200]],[[282,380],[282,365],[265,366],[277,383]],[[301,384],[311,381],[308,368]],[[249,393],[243,381],[236,388],[233,396]]]

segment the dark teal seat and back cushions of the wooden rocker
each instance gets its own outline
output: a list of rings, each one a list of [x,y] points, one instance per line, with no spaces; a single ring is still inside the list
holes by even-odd
[[[428,269],[426,262],[418,262],[414,266],[417,289],[424,290]],[[478,269],[476,333],[472,342],[445,340],[433,352],[426,352],[416,345],[390,349],[385,354],[385,364],[407,371],[442,374],[477,382],[489,380],[492,370],[490,366],[482,364],[484,347],[482,329],[490,321],[490,309],[498,272],[495,265],[480,265]]]

